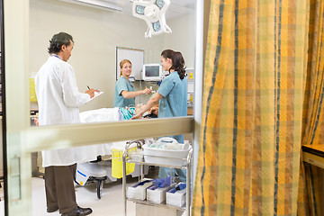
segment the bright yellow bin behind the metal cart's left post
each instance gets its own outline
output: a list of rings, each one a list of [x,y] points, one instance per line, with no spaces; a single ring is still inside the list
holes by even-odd
[[[136,152],[136,146],[129,149],[129,152]],[[122,177],[122,153],[123,149],[119,146],[112,147],[112,177]],[[135,164],[126,163],[126,175],[134,172]]]

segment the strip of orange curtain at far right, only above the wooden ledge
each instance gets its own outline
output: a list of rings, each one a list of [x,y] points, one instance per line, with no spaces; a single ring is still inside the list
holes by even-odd
[[[324,1],[311,0],[309,58],[303,111],[302,144],[324,144],[323,68],[324,68]]]

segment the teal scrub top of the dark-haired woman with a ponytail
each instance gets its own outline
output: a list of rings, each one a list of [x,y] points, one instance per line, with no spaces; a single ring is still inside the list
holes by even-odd
[[[188,81],[180,79],[176,71],[162,80],[157,92],[163,97],[158,104],[158,118],[180,117],[187,115]],[[171,136],[184,143],[184,135]]]

